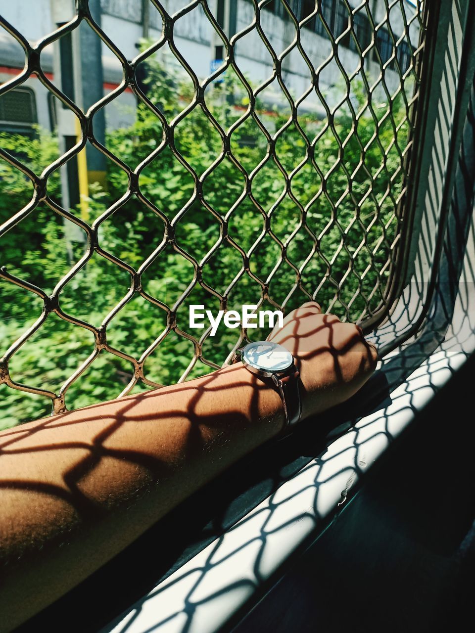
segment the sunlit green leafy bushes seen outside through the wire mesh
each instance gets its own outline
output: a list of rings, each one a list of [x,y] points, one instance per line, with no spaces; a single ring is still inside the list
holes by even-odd
[[[399,151],[407,141],[407,127],[400,125],[405,115],[402,104],[393,106],[392,118],[387,116],[386,104],[373,105],[377,112],[375,120],[365,105],[364,92],[356,85],[352,97],[353,107],[358,111],[356,125],[348,108],[335,113],[332,125],[314,115],[300,115],[303,134],[292,123],[277,135],[277,159],[287,173],[293,173],[290,192],[282,196],[285,179],[281,168],[272,157],[266,159],[267,140],[253,118],[246,118],[232,133],[232,156],[227,154],[219,160],[220,134],[201,106],[195,106],[191,113],[180,118],[193,97],[189,79],[172,80],[157,61],[148,63],[148,72],[151,103],[162,111],[168,123],[178,117],[170,140],[189,169],[165,145],[139,178],[141,192],[158,213],[134,197],[101,224],[99,245],[137,270],[162,243],[164,224],[160,213],[169,220],[180,214],[176,225],[177,246],[198,264],[205,262],[205,287],[193,282],[193,261],[169,244],[163,246],[143,273],[144,291],[169,308],[174,307],[182,292],[190,289],[178,310],[179,329],[196,335],[196,330],[189,330],[189,304],[204,304],[213,311],[219,309],[219,299],[206,289],[206,284],[229,296],[229,308],[240,309],[244,303],[259,301],[261,285],[268,283],[274,270],[269,298],[277,304],[287,298],[286,310],[295,308],[321,286],[316,299],[324,308],[333,302],[334,312],[345,316],[349,311],[348,316],[355,319],[366,307],[364,296],[369,297],[378,287],[379,277],[379,294],[376,292],[371,299],[372,307],[376,307],[383,291],[381,282],[387,275],[387,270],[381,271],[395,235],[395,201],[402,187]],[[244,115],[247,105],[246,92],[231,71],[226,73],[224,82],[206,90],[205,101],[217,125],[224,130]],[[266,112],[262,103],[257,104],[257,116],[270,134],[286,123],[278,108]],[[400,125],[399,151],[391,120]],[[163,135],[159,118],[148,106],[139,104],[136,122],[129,128],[109,132],[106,144],[127,165],[136,168],[160,146]],[[0,142],[37,174],[58,156],[56,137],[42,130],[37,131],[33,140],[0,134]],[[214,163],[217,163],[215,168],[204,177]],[[258,165],[261,168],[255,173]],[[296,170],[298,165],[300,168]],[[195,191],[189,170],[200,177],[202,196]],[[251,177],[252,200],[249,196],[241,199],[244,173]],[[120,199],[126,189],[127,175],[110,163],[105,189],[99,185],[90,187],[91,222]],[[48,192],[53,199],[60,199],[58,173],[49,178]],[[1,163],[0,223],[20,211],[31,196],[29,180],[8,163]],[[308,229],[300,227],[287,243],[300,223],[303,210]],[[265,228],[266,215],[270,217],[275,239],[268,234],[256,245]],[[223,241],[215,252],[220,241],[220,220],[225,218],[229,238],[250,256],[250,273],[243,272],[241,255],[229,242]],[[279,242],[286,244],[291,265],[281,261]],[[1,266],[6,265],[9,272],[51,292],[84,254],[85,243],[80,235],[66,232],[63,219],[42,203],[3,237],[0,249]],[[305,262],[301,282],[308,294],[296,288],[288,298],[296,285],[295,268]],[[228,291],[236,277],[238,282]],[[61,292],[60,306],[66,314],[97,327],[124,298],[129,287],[127,271],[94,253]],[[360,294],[348,310],[346,306],[358,288]],[[0,292],[1,353],[4,353],[39,318],[42,301],[4,280],[0,280]],[[139,358],[162,334],[166,323],[165,310],[137,295],[111,320],[108,342],[113,348]],[[222,363],[237,340],[237,331],[222,328],[215,337],[208,338],[203,345],[206,360]],[[265,332],[251,330],[250,334],[263,336]],[[51,314],[14,354],[11,377],[21,384],[57,393],[93,347],[90,332]],[[170,332],[146,360],[146,376],[161,384],[176,382],[193,353],[190,341]],[[190,375],[209,370],[208,365],[198,361]],[[73,382],[66,403],[77,408],[115,398],[129,383],[132,373],[132,363],[102,351],[92,367]],[[0,428],[47,415],[51,407],[51,401],[44,396],[31,396],[6,385],[0,386],[0,398]]]

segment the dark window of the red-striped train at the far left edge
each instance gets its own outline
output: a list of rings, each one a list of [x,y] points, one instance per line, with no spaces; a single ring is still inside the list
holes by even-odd
[[[15,88],[0,97],[0,130],[15,134],[34,134],[38,122],[35,93],[29,88]]]

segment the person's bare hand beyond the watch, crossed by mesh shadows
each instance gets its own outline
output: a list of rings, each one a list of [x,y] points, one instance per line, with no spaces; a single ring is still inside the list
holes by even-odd
[[[314,301],[289,313],[283,327],[274,328],[267,339],[289,349],[295,358],[302,418],[350,398],[376,367],[376,347],[365,341],[361,328],[323,315]]]

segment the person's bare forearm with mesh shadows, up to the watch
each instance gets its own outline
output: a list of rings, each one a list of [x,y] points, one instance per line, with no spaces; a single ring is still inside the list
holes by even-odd
[[[283,424],[277,392],[239,364],[0,434],[4,630]]]

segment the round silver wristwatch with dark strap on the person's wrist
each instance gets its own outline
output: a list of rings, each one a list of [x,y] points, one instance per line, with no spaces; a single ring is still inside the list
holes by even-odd
[[[300,380],[289,350],[272,341],[257,341],[236,350],[233,362],[239,361],[259,377],[272,379],[284,403],[285,429],[298,422],[302,411],[298,386]]]

